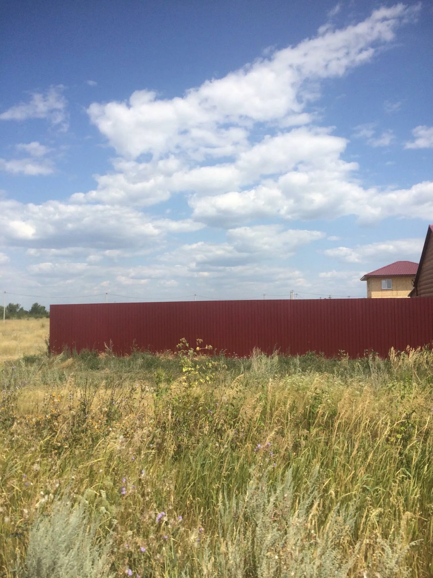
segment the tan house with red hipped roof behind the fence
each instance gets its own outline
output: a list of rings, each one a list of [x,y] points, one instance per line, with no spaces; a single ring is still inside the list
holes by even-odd
[[[395,261],[376,271],[365,273],[361,281],[367,281],[367,297],[409,297],[417,268],[418,264],[413,261]]]

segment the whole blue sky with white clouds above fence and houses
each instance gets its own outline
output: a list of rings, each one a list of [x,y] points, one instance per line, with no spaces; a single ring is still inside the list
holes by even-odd
[[[364,296],[419,260],[431,2],[1,10],[8,301]]]

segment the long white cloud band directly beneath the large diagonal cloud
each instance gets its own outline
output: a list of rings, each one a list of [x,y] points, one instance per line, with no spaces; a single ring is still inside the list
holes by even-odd
[[[332,136],[330,129],[296,128],[290,132],[266,136],[262,141],[241,151],[234,162],[212,166],[188,166],[170,157],[145,163],[116,159],[118,172],[99,176],[98,188],[87,194],[72,196],[73,202],[132,202],[152,205],[166,201],[173,192],[200,191],[216,194],[240,190],[257,180],[302,165],[323,168],[333,163],[349,171],[355,164],[342,163],[338,156],[345,150],[346,139]],[[344,171],[343,171],[344,172]]]

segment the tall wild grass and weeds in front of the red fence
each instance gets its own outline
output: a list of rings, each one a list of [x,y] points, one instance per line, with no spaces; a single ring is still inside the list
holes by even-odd
[[[430,351],[84,351],[0,379],[2,576],[433,575]]]

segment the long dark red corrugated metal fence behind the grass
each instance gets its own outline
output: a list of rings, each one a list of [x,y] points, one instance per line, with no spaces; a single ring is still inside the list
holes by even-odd
[[[254,347],[272,353],[322,351],[350,357],[391,347],[404,350],[433,342],[433,298],[305,299],[303,301],[197,301],[52,305],[50,346],[117,354],[175,350],[185,337],[216,351],[249,355]]]

